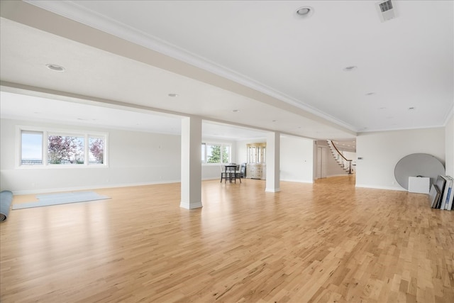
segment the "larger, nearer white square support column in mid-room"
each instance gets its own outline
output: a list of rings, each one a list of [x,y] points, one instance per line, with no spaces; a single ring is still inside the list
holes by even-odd
[[[201,119],[182,119],[182,201],[184,209],[201,207]]]

